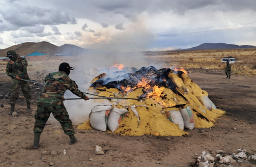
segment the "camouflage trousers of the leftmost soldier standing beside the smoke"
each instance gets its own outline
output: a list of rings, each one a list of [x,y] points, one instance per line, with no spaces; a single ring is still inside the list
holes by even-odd
[[[11,97],[10,102],[11,104],[14,104],[16,100],[19,98],[19,90],[21,88],[23,95],[26,97],[27,101],[30,101],[31,95],[30,95],[30,83],[24,82],[24,81],[18,81],[13,79],[11,82]]]

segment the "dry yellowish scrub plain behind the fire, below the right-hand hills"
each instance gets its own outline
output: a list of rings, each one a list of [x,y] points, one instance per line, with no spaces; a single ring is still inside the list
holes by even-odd
[[[256,76],[256,49],[148,52],[145,56],[151,62],[157,59],[164,67],[208,69],[225,69],[222,58],[233,56],[241,62],[232,63],[232,73]]]

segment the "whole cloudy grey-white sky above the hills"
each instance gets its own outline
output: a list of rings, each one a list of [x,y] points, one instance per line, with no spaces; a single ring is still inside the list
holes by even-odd
[[[0,0],[0,49],[49,41],[106,51],[256,46],[256,0]]]

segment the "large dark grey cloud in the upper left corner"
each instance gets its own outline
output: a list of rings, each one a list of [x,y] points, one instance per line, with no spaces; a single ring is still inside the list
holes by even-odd
[[[13,8],[15,8],[15,12],[10,12]],[[1,7],[0,15],[6,22],[5,24],[9,25],[9,29],[4,28],[5,31],[37,25],[77,24],[74,17],[71,17],[62,10],[42,8],[26,3],[14,3],[9,6]],[[3,27],[2,24],[4,24],[4,22],[0,22],[0,27]]]

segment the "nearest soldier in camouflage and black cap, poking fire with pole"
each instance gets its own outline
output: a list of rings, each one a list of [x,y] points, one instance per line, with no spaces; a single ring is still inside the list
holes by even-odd
[[[63,103],[65,100],[64,93],[68,89],[84,100],[89,100],[89,98],[68,77],[70,70],[73,70],[73,67],[70,67],[68,63],[62,63],[58,72],[50,73],[45,77],[45,85],[38,100],[37,110],[34,113],[34,148],[39,146],[40,135],[51,113],[61,123],[65,134],[69,136],[69,144],[72,145],[77,141],[74,136],[72,121],[69,119]]]

